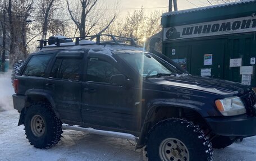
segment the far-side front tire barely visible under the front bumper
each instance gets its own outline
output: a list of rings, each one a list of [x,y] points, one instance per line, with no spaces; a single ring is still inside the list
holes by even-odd
[[[235,140],[231,140],[228,136],[217,136],[212,140],[212,148],[221,149],[233,144]]]

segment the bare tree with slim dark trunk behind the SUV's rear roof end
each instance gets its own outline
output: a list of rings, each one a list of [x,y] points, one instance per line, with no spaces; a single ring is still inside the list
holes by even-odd
[[[52,35],[65,35],[70,30],[70,21],[64,0],[34,0],[35,11],[31,15],[32,23],[27,29],[27,50],[36,50],[38,39],[47,39]]]

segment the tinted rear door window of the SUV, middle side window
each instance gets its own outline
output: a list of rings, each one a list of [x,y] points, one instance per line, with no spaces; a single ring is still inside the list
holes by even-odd
[[[79,80],[82,59],[56,59],[50,77],[65,80]]]

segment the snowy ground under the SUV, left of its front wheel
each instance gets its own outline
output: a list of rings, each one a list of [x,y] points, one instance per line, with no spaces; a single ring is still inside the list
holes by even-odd
[[[66,130],[50,149],[36,149],[26,139],[24,126],[17,126],[19,114],[0,113],[0,160],[142,160],[140,150],[127,140]]]

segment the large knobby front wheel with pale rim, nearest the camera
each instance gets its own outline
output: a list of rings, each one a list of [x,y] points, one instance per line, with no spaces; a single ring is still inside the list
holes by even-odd
[[[158,122],[147,140],[149,161],[208,161],[213,160],[211,142],[199,126],[180,118]]]

